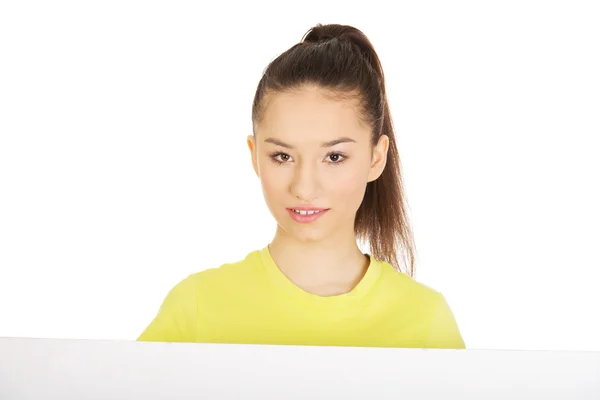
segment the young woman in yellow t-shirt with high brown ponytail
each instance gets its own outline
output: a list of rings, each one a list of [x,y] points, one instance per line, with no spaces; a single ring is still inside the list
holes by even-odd
[[[252,122],[273,240],[183,279],[138,340],[465,348],[442,294],[413,279],[398,149],[368,38],[346,25],[310,29],[265,70]]]

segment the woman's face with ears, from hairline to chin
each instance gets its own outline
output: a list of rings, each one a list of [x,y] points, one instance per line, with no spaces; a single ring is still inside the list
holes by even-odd
[[[356,100],[323,93],[306,86],[270,94],[256,135],[248,137],[271,214],[301,241],[354,234],[367,183],[383,171],[388,149],[386,136],[371,145]]]

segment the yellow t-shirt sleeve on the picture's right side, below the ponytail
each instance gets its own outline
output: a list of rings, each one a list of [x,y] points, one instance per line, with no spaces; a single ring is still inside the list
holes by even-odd
[[[437,305],[432,314],[429,330],[428,348],[438,349],[466,349],[458,324],[446,301],[438,293]]]

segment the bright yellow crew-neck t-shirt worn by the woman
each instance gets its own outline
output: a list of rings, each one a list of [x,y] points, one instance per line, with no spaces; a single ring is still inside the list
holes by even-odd
[[[322,297],[294,285],[268,246],[253,251],[175,285],[138,340],[465,348],[440,293],[369,257],[352,291]]]

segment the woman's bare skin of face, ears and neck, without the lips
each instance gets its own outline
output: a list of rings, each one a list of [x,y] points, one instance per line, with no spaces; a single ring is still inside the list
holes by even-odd
[[[368,182],[386,163],[389,138],[371,145],[371,128],[356,100],[331,100],[305,86],[268,96],[256,135],[247,138],[265,201],[277,221],[270,253],[296,286],[319,296],[351,291],[369,265],[354,234],[354,218]],[[337,141],[337,142],[336,142]],[[326,209],[299,223],[290,209]]]

